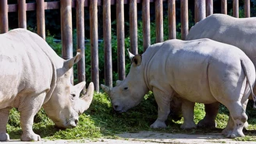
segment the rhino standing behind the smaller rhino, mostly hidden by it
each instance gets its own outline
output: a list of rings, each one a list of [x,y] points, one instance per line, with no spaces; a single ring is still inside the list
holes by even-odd
[[[225,44],[234,45],[244,51],[254,65],[256,65],[255,23],[256,18],[254,17],[235,18],[224,14],[213,14],[196,23],[190,29],[186,39],[195,40],[199,38],[210,38]],[[255,90],[256,86],[254,86],[254,91]],[[172,115],[180,115],[181,101],[182,100],[172,100]],[[185,107],[187,107],[187,111],[184,112],[184,114],[190,114],[190,118],[187,118],[187,121],[184,121],[184,123],[187,123],[187,126],[184,128],[194,128],[194,104],[186,105]],[[215,118],[218,111],[219,103],[205,104],[206,115],[203,120],[198,122],[197,127],[215,128]]]

